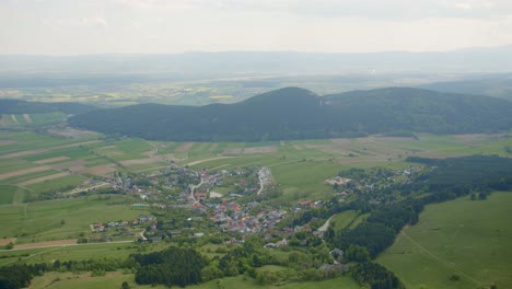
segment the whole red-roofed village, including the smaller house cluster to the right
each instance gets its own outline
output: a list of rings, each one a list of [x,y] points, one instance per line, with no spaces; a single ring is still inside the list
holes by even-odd
[[[352,169],[325,183],[333,187],[338,203],[364,196],[370,204],[380,204],[389,196],[372,192],[406,184],[420,171],[421,167],[412,166],[404,171]],[[300,200],[287,207],[270,206],[264,200],[278,190],[277,185],[270,169],[256,165],[218,171],[172,165],[150,174],[123,175],[106,182],[123,194],[139,198],[132,208],[151,208],[165,213],[159,218],[141,216],[136,220],[104,220],[91,224],[92,232],[105,235],[104,240],[108,240],[107,235],[139,236],[139,242],[160,242],[207,235],[220,236],[224,243],[238,243],[248,234],[263,232],[269,241],[267,247],[278,247],[287,245],[287,238],[295,232],[314,231],[310,226],[282,226],[282,220],[326,204],[326,200]],[[179,217],[175,216],[176,211],[181,212]]]

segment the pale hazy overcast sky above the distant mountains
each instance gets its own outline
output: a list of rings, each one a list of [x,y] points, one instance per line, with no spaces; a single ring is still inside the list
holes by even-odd
[[[452,50],[512,43],[512,0],[0,0],[0,54]]]

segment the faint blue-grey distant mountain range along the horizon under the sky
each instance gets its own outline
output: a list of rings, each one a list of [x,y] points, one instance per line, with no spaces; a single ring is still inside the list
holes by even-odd
[[[154,73],[226,76],[345,72],[510,72],[512,46],[445,53],[225,51],[164,55],[0,56],[0,72]],[[143,77],[143,76],[141,76]]]

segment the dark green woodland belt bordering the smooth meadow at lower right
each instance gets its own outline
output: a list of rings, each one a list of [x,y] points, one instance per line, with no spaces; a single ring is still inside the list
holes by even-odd
[[[331,246],[345,250],[345,261],[359,264],[352,269],[352,276],[371,288],[402,288],[403,285],[393,273],[369,263],[369,259],[375,258],[392,245],[404,226],[417,223],[426,205],[454,199],[472,192],[479,192],[479,198],[485,199],[492,189],[512,188],[512,160],[508,158],[473,155],[445,160],[411,158],[409,161],[434,167],[420,175],[415,183],[400,186],[405,199],[393,205],[377,206],[365,221],[353,229],[325,235]],[[418,190],[421,195],[426,193],[424,196],[418,197]]]

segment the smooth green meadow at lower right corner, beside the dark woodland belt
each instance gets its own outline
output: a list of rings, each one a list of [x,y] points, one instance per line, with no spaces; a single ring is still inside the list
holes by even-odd
[[[377,262],[407,288],[512,288],[511,205],[512,193],[430,205]]]

